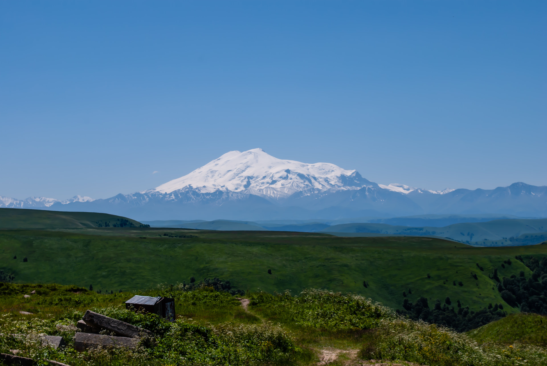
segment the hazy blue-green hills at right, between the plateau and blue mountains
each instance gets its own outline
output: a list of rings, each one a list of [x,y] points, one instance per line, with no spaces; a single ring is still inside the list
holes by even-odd
[[[547,232],[547,219],[511,219],[488,222],[456,223],[445,227],[392,226],[382,223],[347,223],[323,229],[325,233],[378,233],[388,235],[437,236],[457,240],[461,243],[482,246],[538,244],[521,235]]]

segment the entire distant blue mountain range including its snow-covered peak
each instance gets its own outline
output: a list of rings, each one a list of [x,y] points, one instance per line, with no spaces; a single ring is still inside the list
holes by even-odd
[[[379,185],[330,163],[280,160],[261,149],[230,151],[151,190],[59,201],[0,196],[0,207],[107,212],[142,220],[307,220],[423,214],[547,217],[547,186],[430,191]]]

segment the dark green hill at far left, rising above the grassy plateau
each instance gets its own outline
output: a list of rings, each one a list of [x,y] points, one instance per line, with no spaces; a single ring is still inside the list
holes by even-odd
[[[0,208],[0,228],[59,228],[96,227],[97,221],[115,223],[120,219],[129,220],[135,226],[140,222],[127,217],[100,214],[98,212],[61,212],[45,210]]]

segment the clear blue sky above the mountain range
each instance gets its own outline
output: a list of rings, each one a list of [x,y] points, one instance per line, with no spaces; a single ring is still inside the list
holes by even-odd
[[[547,185],[546,36],[537,0],[3,1],[0,195],[107,198],[255,147]]]

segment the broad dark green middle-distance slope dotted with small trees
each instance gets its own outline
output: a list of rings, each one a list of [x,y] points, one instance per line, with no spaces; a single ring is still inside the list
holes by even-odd
[[[158,236],[163,233],[198,237]],[[12,259],[14,255],[18,259]],[[472,309],[503,303],[488,274],[498,268],[500,278],[521,270],[531,275],[515,255],[545,256],[547,246],[478,248],[416,237],[154,228],[0,231],[0,267],[13,271],[20,283],[93,284],[96,290],[127,291],[188,281],[190,276],[217,276],[242,290],[296,293],[302,288],[328,288],[363,294],[393,308],[401,307],[402,293],[409,288],[411,301],[426,296],[433,304],[449,296],[452,302],[459,299]],[[22,262],[24,256],[28,262]],[[513,265],[502,269],[501,263],[508,258]],[[474,280],[472,273],[479,279]],[[453,286],[452,281],[462,281],[464,286]]]

